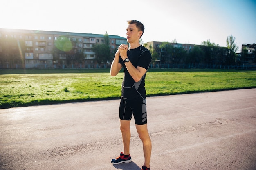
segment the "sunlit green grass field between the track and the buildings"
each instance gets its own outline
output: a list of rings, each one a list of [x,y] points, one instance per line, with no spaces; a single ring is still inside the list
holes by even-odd
[[[109,69],[0,70],[0,108],[116,99],[122,72]],[[256,71],[150,69],[147,96],[256,88]]]

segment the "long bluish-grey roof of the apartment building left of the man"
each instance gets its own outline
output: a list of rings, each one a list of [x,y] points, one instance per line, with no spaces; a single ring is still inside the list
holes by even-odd
[[[79,36],[79,37],[99,37],[104,38],[103,34],[92,34],[92,33],[72,33],[72,32],[61,32],[61,31],[42,31],[42,30],[23,30],[23,29],[5,29],[0,28],[0,32],[10,33],[29,33],[29,34],[52,34],[52,35],[66,35],[66,36]],[[126,39],[118,35],[108,35],[109,38],[115,39]]]

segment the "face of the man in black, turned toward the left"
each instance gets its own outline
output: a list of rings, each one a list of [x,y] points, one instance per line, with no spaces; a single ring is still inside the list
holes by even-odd
[[[135,24],[129,24],[126,31],[128,43],[139,41],[142,31],[138,31],[138,28]]]

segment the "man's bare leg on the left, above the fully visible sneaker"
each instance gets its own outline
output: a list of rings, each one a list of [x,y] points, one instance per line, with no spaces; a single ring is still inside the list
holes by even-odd
[[[120,120],[120,130],[122,132],[122,139],[124,144],[124,155],[130,154],[130,120]]]

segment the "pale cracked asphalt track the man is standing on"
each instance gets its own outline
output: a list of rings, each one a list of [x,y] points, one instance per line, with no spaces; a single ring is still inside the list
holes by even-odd
[[[0,109],[1,170],[140,170],[122,151],[119,100]],[[152,170],[255,170],[256,89],[147,98]]]

